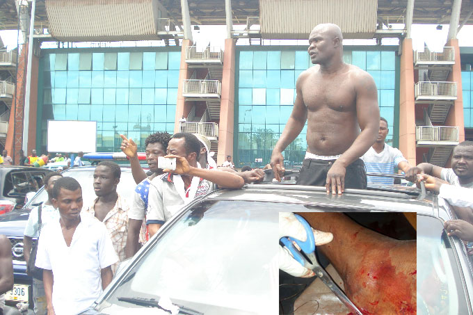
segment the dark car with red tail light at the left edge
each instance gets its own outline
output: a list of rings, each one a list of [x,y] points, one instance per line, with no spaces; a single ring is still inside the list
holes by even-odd
[[[0,165],[0,214],[22,208],[26,194],[41,188],[47,172],[51,170]]]

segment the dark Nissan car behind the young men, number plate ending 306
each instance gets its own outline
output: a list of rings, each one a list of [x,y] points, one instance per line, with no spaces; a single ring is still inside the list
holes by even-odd
[[[30,169],[30,168],[29,168]],[[37,169],[38,170],[38,169]],[[39,169],[42,172],[50,172],[49,170]],[[83,206],[88,207],[93,200],[97,197],[93,188],[93,172],[95,166],[83,166],[80,168],[70,168],[62,172],[63,176],[74,177],[79,181],[82,187],[83,194]],[[131,168],[122,167],[122,176],[120,178],[120,184],[118,184],[118,193],[125,198],[125,200],[132,200],[132,193],[136,186],[133,177],[131,176]],[[33,172],[33,174],[35,174]],[[44,187],[40,188],[38,193],[34,195],[24,207],[17,211],[11,211],[9,213],[0,216],[0,234],[8,236],[12,245],[13,255],[13,273],[15,275],[15,286],[13,292],[7,294],[7,304],[12,305],[16,302],[29,301],[30,307],[33,307],[31,298],[33,297],[32,292],[32,279],[26,273],[26,261],[23,256],[23,232],[26,226],[26,221],[29,218],[29,213],[33,207],[38,206],[41,202],[47,200],[47,192]],[[34,240],[36,241],[36,240]]]

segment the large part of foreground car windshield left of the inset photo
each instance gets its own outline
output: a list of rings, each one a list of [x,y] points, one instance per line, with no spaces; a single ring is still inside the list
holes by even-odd
[[[145,306],[127,298],[170,298],[205,314],[275,314],[278,212],[248,206],[200,202],[151,244],[96,310],[131,314]]]

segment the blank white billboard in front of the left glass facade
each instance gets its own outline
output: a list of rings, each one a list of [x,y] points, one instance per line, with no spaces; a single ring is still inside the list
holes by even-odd
[[[97,122],[79,120],[48,120],[48,152],[95,152]]]

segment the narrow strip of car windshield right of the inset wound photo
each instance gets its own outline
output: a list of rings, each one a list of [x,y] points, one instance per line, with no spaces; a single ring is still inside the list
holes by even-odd
[[[417,218],[417,314],[467,314],[455,250],[442,221]]]

